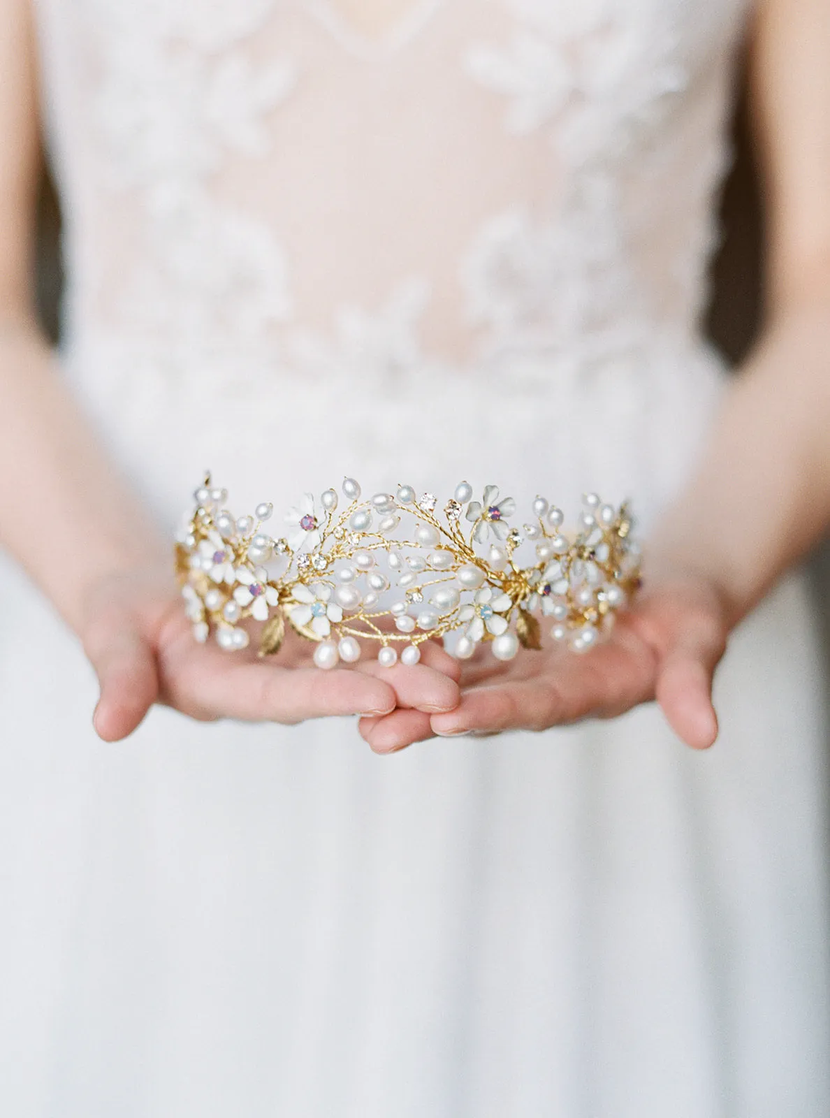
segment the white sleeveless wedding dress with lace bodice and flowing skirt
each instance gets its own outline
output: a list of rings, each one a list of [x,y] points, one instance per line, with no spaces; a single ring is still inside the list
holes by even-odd
[[[67,378],[171,532],[206,466],[240,511],[464,477],[648,530],[725,382],[747,4],[379,11],[37,0]],[[707,755],[653,707],[390,758],[158,709],[105,746],[77,643],[0,588],[4,1115],[830,1114],[798,578],[735,634]]]

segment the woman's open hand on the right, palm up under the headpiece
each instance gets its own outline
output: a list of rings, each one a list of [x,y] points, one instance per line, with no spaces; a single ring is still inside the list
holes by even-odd
[[[657,699],[687,745],[717,737],[711,681],[726,647],[721,595],[702,577],[652,575],[611,637],[584,654],[549,641],[507,663],[485,646],[462,667],[462,699],[451,712],[399,710],[364,718],[360,732],[376,752],[424,738],[502,730],[544,730],[585,718],[613,718]]]

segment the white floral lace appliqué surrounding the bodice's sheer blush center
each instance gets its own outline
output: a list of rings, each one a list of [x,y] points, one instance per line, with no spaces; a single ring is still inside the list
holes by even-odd
[[[438,36],[447,8],[430,0],[405,22],[425,38],[434,20]],[[507,197],[460,260],[441,262],[465,307],[463,371],[517,354],[544,362],[556,352],[613,352],[661,323],[688,331],[711,239],[704,215],[724,161],[715,127],[723,105],[713,91],[742,8],[743,0],[699,0],[691,11],[680,0],[493,0],[501,22],[492,39],[479,35],[470,7],[458,74],[503,113],[506,139],[545,145],[557,170],[544,206]],[[403,271],[380,303],[349,292],[328,332],[308,326],[296,314],[280,215],[252,211],[224,184],[228,169],[263,174],[277,164],[273,123],[300,112],[313,89],[306,59],[287,47],[256,51],[258,38],[289,16],[294,26],[304,16],[308,37],[310,17],[334,20],[328,3],[85,0],[84,10],[100,70],[95,143],[107,189],[138,200],[143,226],[103,321],[82,311],[86,331],[120,338],[126,364],[130,352],[141,353],[180,377],[206,368],[238,377],[245,368],[394,387],[416,372],[462,371],[424,341],[430,274]],[[711,126],[702,158],[690,153],[701,170],[679,200],[686,217],[676,233],[670,221],[649,233],[652,211],[677,186],[673,153],[692,143],[701,113]],[[641,259],[667,230],[669,278],[679,288],[668,312],[658,305],[663,276],[649,277]]]

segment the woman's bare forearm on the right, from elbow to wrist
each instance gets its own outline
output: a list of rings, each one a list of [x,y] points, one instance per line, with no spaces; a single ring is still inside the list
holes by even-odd
[[[651,541],[739,620],[830,523],[830,297],[783,310],[736,376],[706,453]]]

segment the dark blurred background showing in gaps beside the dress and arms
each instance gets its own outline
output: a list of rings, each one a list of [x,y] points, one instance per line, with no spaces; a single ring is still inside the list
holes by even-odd
[[[721,237],[711,266],[706,329],[729,363],[737,366],[757,335],[764,303],[763,207],[743,67],[732,135],[734,161],[720,199]],[[62,287],[60,208],[46,169],[38,205],[37,299],[43,325],[54,341],[59,338]],[[830,697],[830,540],[811,557],[809,566],[820,614],[827,694]]]

